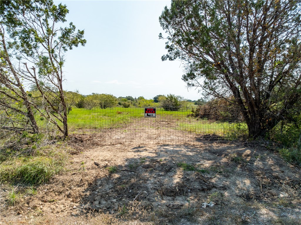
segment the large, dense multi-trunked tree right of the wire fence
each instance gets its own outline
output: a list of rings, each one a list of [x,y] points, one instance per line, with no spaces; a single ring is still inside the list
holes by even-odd
[[[162,60],[185,61],[188,86],[239,106],[249,137],[265,137],[300,101],[300,11],[300,1],[172,1],[159,18]]]

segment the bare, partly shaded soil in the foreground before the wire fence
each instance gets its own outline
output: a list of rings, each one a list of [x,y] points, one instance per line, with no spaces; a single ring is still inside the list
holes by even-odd
[[[73,135],[66,169],[14,207],[2,185],[0,224],[301,224],[300,168],[262,145],[102,141],[111,134]]]

